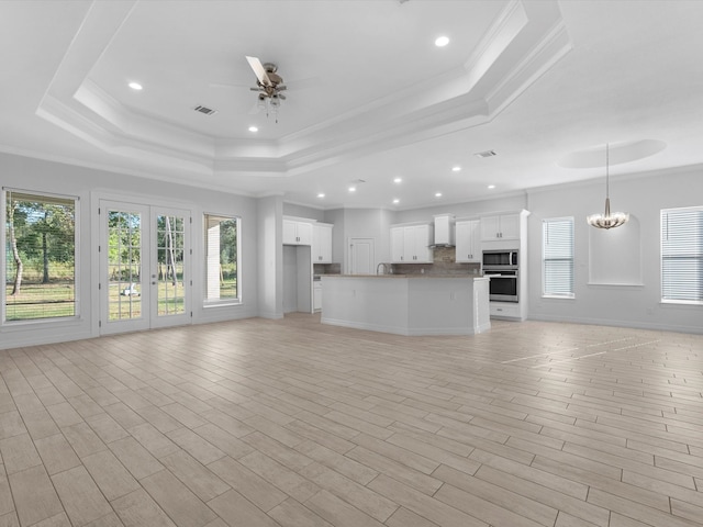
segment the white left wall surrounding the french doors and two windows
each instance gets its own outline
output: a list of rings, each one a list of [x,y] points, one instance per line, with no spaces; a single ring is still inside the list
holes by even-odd
[[[194,182],[196,183],[196,182]],[[11,324],[0,327],[0,348],[27,346],[88,338],[99,335],[99,293],[97,273],[99,240],[96,197],[133,197],[154,204],[177,204],[193,214],[193,322],[234,319],[256,316],[258,306],[257,200],[201,187],[187,187],[137,178],[103,170],[64,165],[41,159],[0,154],[0,186],[33,192],[49,192],[79,198],[79,244],[76,287],[80,316],[70,322]],[[203,225],[202,214],[232,214],[242,217],[241,287],[243,304],[226,307],[202,307],[203,298]],[[4,265],[4,262],[2,262]]]

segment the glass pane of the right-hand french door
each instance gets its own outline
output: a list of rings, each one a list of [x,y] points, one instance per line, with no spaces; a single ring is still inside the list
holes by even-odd
[[[156,216],[157,315],[182,315],[186,312],[183,288],[185,226],[182,216]]]

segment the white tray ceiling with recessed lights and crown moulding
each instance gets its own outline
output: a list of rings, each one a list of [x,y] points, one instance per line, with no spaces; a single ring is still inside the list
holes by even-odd
[[[677,0],[4,0],[0,150],[322,209],[602,178],[606,143],[613,178],[703,165],[701,21]],[[278,122],[250,113],[245,55],[278,65]]]

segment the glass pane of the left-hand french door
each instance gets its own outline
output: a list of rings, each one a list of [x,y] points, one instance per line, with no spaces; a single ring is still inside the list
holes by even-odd
[[[108,317],[142,316],[142,216],[108,211]]]

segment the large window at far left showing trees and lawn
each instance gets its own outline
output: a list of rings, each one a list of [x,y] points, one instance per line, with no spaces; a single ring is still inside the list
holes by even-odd
[[[78,314],[76,201],[5,191],[3,321]]]

